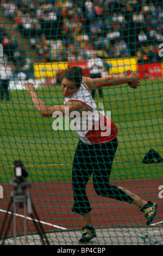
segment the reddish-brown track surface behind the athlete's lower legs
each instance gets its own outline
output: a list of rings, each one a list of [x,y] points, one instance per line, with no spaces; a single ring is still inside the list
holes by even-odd
[[[117,180],[110,183],[128,188],[146,200],[155,200],[158,203],[158,214],[153,223],[163,221],[163,198],[160,199],[158,195],[160,192],[158,188],[160,185],[163,185],[163,180]],[[5,216],[4,210],[7,210],[12,190],[12,187],[7,184],[3,185],[3,188],[4,198],[1,199],[0,203],[2,219],[0,229]],[[73,205],[71,182],[34,182],[33,187],[30,188],[30,195],[40,220],[45,222],[43,224],[45,231],[52,232],[55,230],[60,231],[61,228],[70,230],[83,227],[80,216],[75,215],[71,211]],[[138,225],[144,226],[146,223],[143,213],[136,206],[97,196],[91,182],[87,185],[87,195],[92,206],[92,220],[96,228],[137,227]],[[18,208],[17,214],[24,215],[23,211]],[[16,221],[17,234],[23,234],[24,218],[16,217]],[[57,225],[58,227],[52,227],[49,224]],[[159,225],[162,224],[163,222]],[[27,228],[28,233],[35,233],[32,220],[27,221]],[[12,229],[13,222],[8,234],[12,234]]]

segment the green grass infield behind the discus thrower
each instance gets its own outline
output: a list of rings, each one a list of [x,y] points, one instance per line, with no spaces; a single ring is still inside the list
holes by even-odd
[[[143,164],[150,148],[162,156],[162,81],[142,80],[137,90],[104,88],[106,111],[119,129],[118,150],[111,179],[162,178],[162,163]],[[26,91],[11,91],[10,102],[0,102],[0,182],[9,182],[17,159],[33,181],[71,180],[75,131],[54,131],[54,118],[41,117]],[[37,90],[49,106],[62,104],[60,86]]]

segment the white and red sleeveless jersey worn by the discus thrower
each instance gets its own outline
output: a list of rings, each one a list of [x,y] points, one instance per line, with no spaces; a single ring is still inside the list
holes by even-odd
[[[103,127],[105,129],[106,125],[110,123],[110,133],[108,133],[108,130],[105,133],[102,125],[99,125],[101,114],[99,114],[96,102],[92,99],[91,93],[84,82],[80,84],[77,92],[71,97],[65,97],[64,104],[66,105],[68,101],[78,101],[79,103],[84,103],[86,106],[87,112],[83,111],[82,115],[78,111],[72,111],[69,113],[69,116],[67,116],[74,125],[82,142],[90,145],[101,144],[109,142],[117,136],[117,127],[111,120],[104,117],[104,115]]]

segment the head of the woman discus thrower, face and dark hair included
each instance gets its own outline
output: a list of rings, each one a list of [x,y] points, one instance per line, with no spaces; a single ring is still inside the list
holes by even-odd
[[[64,97],[72,96],[80,87],[82,83],[82,68],[79,66],[72,66],[65,70],[61,76],[61,90]]]

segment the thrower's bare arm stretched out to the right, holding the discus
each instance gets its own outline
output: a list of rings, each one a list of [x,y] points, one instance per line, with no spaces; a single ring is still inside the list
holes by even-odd
[[[139,86],[139,77],[137,77],[133,72],[129,76],[124,74],[118,75],[107,75],[101,78],[90,78],[90,77],[82,77],[84,83],[90,89],[100,88],[100,87],[108,87],[108,86],[119,86],[120,84],[124,83],[132,83],[134,88],[136,89]]]

